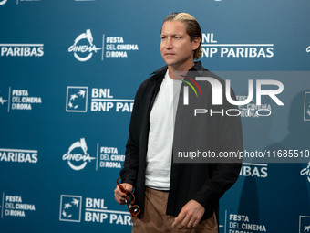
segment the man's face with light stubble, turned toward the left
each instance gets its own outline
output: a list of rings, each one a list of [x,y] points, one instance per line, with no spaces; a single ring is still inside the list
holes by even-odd
[[[192,64],[193,52],[199,47],[201,39],[186,33],[186,25],[180,21],[167,21],[161,27],[160,53],[168,66],[180,68]]]

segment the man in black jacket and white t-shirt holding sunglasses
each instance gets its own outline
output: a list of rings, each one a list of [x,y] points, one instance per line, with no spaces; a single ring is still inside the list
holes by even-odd
[[[160,53],[167,66],[156,70],[137,91],[120,171],[121,185],[127,192],[135,189],[141,208],[132,231],[218,232],[219,198],[237,180],[241,163],[175,163],[174,158],[183,144],[191,149],[202,144],[200,150],[217,155],[243,150],[241,120],[218,113],[194,118],[192,107],[185,106],[181,89],[185,79],[191,79],[191,72],[199,76],[208,72],[201,62],[194,62],[202,56],[198,21],[187,13],[173,13],[165,18],[160,34]],[[184,80],[177,72],[185,72]],[[199,101],[212,108],[212,87],[204,86]],[[221,112],[235,109],[226,100],[222,107]],[[188,122],[198,124],[192,127]],[[125,204],[124,190],[117,186],[114,192],[119,204]]]

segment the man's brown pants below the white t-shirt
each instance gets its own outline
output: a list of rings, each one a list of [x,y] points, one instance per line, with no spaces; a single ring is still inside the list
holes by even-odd
[[[175,217],[166,215],[168,195],[168,192],[146,188],[144,214],[140,219],[137,217],[132,219],[132,233],[218,233],[215,213],[209,219],[203,220],[196,228],[172,228]]]

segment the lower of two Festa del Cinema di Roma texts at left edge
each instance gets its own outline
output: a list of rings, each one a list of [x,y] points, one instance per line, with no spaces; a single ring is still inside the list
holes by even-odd
[[[26,217],[28,212],[36,211],[35,204],[24,201],[22,196],[2,194],[1,218]]]

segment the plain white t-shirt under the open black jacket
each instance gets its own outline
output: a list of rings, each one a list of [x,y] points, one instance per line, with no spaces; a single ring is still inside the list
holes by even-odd
[[[150,132],[145,185],[169,190],[174,119],[179,101],[181,80],[170,78],[168,69],[150,111]]]

